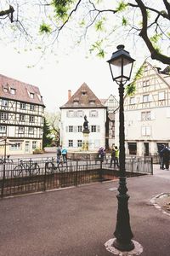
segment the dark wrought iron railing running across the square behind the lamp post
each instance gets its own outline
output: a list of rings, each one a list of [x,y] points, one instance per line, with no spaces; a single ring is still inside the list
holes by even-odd
[[[79,184],[113,180],[118,167],[110,167],[110,159],[67,160],[58,166],[56,159],[17,160],[0,165],[0,195],[19,195],[49,189],[61,189]],[[127,177],[152,174],[152,160],[127,159]]]

